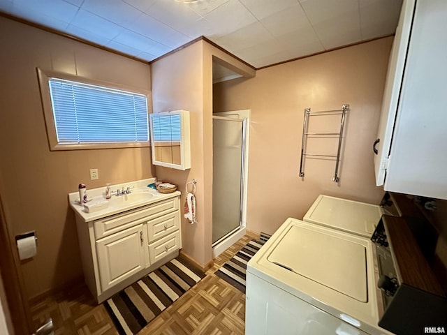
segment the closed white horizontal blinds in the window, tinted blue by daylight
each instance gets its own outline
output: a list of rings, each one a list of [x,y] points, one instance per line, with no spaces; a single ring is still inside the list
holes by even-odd
[[[149,142],[147,96],[50,78],[59,144]]]

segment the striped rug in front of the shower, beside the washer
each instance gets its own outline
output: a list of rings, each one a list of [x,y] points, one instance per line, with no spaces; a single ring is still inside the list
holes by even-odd
[[[215,272],[219,278],[233,285],[237,290],[245,293],[245,277],[247,262],[263,246],[261,240],[251,240],[233,258],[230,258],[219,270]]]

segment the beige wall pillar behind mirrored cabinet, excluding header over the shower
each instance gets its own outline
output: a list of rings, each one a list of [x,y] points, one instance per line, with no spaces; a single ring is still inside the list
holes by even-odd
[[[154,113],[168,110],[189,110],[191,132],[191,169],[181,171],[156,166],[156,177],[177,184],[185,199],[185,185],[197,179],[196,203],[198,223],[190,225],[182,218],[182,248],[186,255],[201,265],[205,255],[205,188],[203,183],[203,61],[202,43],[193,43],[179,52],[155,61],[152,71],[152,103]]]

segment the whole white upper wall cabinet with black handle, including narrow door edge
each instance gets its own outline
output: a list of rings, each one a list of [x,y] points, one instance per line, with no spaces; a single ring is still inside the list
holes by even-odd
[[[388,65],[376,184],[447,199],[445,0],[404,0]]]

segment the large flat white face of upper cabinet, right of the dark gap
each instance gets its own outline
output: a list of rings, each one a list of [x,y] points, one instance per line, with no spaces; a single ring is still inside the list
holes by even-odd
[[[417,1],[385,190],[447,199],[447,2]]]

